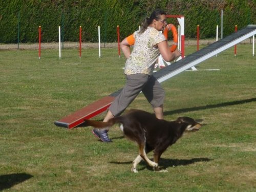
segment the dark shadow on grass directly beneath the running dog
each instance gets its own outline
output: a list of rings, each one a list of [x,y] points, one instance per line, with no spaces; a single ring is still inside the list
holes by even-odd
[[[182,165],[184,166],[184,165],[189,165],[189,164],[193,164],[193,163],[196,163],[196,162],[204,162],[204,161],[211,161],[211,159],[209,159],[209,158],[193,158],[193,159],[163,159],[163,158],[161,158],[160,161],[159,161],[159,166],[162,169],[166,169],[168,167],[176,167],[176,166],[182,166]],[[131,166],[132,166],[133,162],[132,161],[126,161],[126,162],[111,161],[110,163],[131,164]],[[143,170],[145,168],[153,170],[152,167],[148,166],[145,161],[141,161],[140,164],[144,165],[144,167],[140,168],[138,170]]]

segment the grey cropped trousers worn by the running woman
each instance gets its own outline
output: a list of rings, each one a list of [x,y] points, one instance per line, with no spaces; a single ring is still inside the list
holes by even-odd
[[[164,90],[153,75],[126,75],[124,88],[110,105],[109,110],[112,115],[121,115],[141,91],[153,108],[157,108],[163,104]]]

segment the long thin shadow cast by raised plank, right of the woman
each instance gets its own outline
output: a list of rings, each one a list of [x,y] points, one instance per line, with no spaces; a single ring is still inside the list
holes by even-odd
[[[173,111],[166,111],[166,112],[164,112],[164,115],[173,115],[173,114],[185,113],[185,112],[190,112],[190,111],[206,110],[206,109],[212,109],[212,108],[221,108],[223,106],[244,104],[244,103],[255,102],[255,101],[256,101],[256,98],[251,98],[251,99],[245,99],[245,100],[239,100],[239,101],[224,102],[224,103],[219,103],[219,104],[209,104],[209,105],[204,105],[204,106],[197,106],[195,108],[184,108],[184,109],[178,109],[178,110],[173,110]]]

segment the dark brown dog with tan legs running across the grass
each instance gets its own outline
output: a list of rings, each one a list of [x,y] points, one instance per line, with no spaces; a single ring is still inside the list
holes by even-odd
[[[132,172],[138,173],[137,164],[143,159],[157,172],[167,172],[158,166],[162,153],[173,145],[183,132],[198,131],[202,124],[190,117],[179,117],[175,121],[157,119],[155,114],[141,110],[130,110],[122,116],[114,117],[108,122],[85,119],[87,125],[106,129],[120,123],[120,129],[125,137],[135,141],[139,146],[139,155],[133,161]],[[153,151],[154,161],[147,157]]]

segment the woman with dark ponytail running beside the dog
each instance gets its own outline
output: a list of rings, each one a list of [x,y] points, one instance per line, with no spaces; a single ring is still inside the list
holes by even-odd
[[[135,31],[121,42],[121,49],[127,58],[124,68],[126,83],[110,105],[103,121],[119,116],[141,91],[151,103],[156,117],[163,119],[164,90],[152,75],[154,66],[160,54],[166,61],[172,61],[180,56],[179,51],[169,51],[167,41],[161,33],[165,27],[166,13],[157,9],[150,18],[145,19],[140,31]],[[130,46],[133,44],[131,53]],[[94,129],[92,132],[103,142],[112,142],[108,137],[107,129],[103,131]]]

